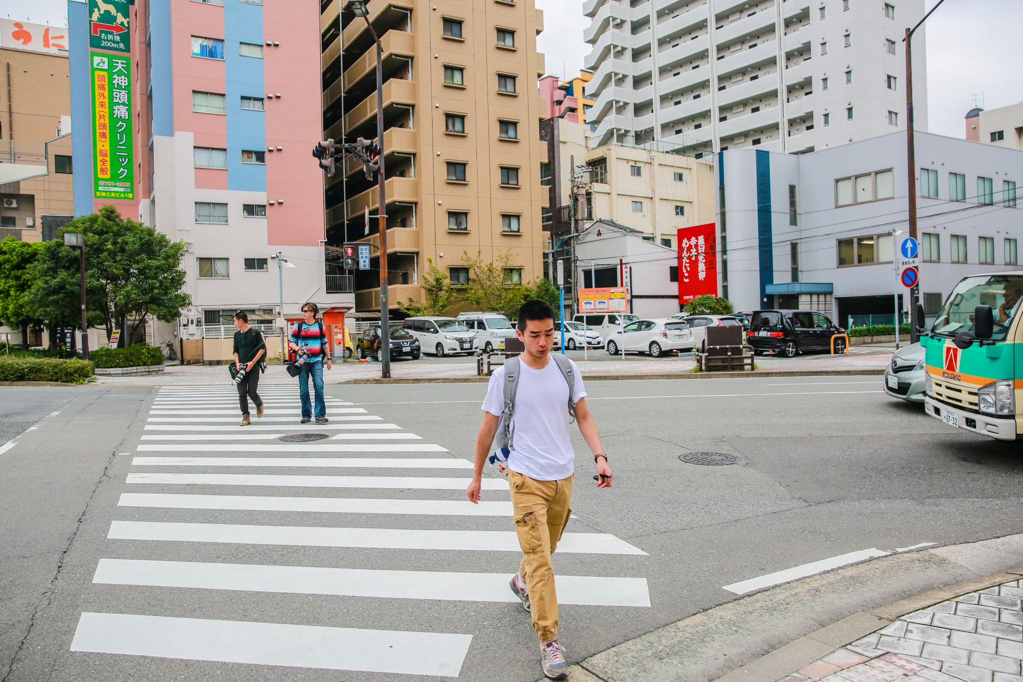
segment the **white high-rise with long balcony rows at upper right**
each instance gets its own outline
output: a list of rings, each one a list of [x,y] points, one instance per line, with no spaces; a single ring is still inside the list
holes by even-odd
[[[586,0],[592,145],[803,153],[905,128],[923,0]],[[924,31],[914,36],[927,130]]]

